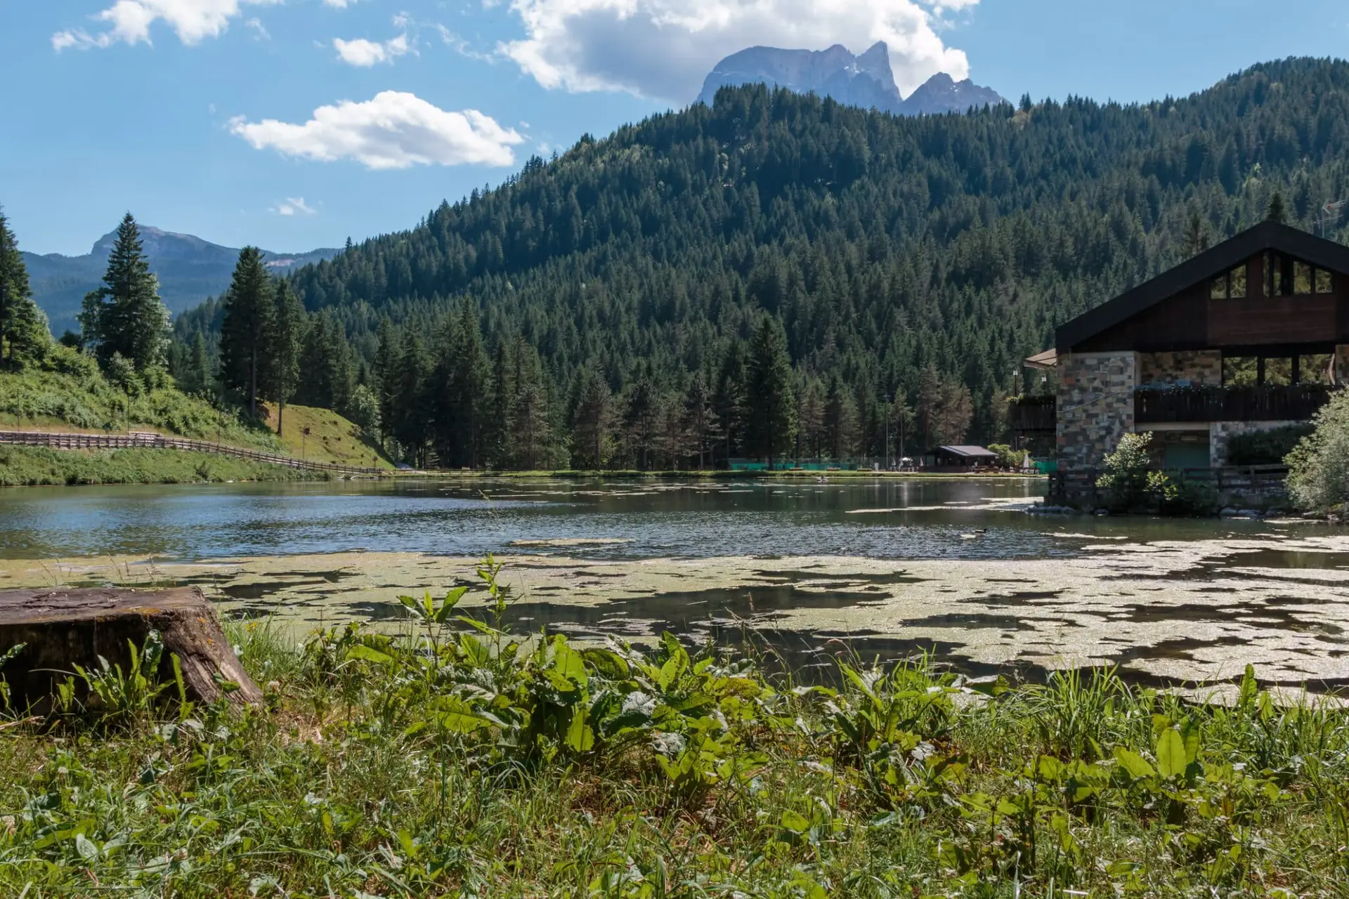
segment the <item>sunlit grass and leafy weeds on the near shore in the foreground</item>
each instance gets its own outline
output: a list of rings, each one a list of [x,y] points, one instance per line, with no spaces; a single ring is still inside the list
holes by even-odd
[[[510,597],[480,573],[496,620]],[[975,694],[929,660],[236,627],[268,704],[89,674],[0,729],[0,892],[134,896],[1344,896],[1349,717],[1110,673]],[[490,607],[491,608],[491,607]],[[467,629],[463,629],[467,627]],[[147,647],[152,650],[152,647]],[[154,662],[152,651],[148,652]],[[159,700],[155,700],[158,691]]]

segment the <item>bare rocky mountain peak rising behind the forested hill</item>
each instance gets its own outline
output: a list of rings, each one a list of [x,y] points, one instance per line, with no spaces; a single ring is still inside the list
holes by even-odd
[[[1004,102],[992,88],[973,81],[955,81],[946,73],[932,75],[905,100],[890,70],[890,50],[884,40],[854,57],[847,47],[828,50],[778,50],[750,47],[722,59],[703,82],[699,100],[708,106],[720,88],[765,84],[796,93],[815,93],[863,109],[880,109],[904,116],[966,112]]]

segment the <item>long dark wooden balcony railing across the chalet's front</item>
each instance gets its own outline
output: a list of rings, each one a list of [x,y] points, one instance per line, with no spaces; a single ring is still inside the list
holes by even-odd
[[[1323,384],[1137,390],[1133,418],[1139,425],[1304,422],[1330,400],[1334,390]]]

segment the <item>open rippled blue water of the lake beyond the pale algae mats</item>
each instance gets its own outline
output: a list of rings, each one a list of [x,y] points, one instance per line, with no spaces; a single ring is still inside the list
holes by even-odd
[[[1041,518],[1041,480],[475,481],[18,488],[0,492],[0,558],[200,561],[364,550],[480,557],[568,540],[598,558],[854,555],[1051,558],[1103,539],[1251,535],[1252,522]],[[1286,528],[1284,528],[1286,530]]]

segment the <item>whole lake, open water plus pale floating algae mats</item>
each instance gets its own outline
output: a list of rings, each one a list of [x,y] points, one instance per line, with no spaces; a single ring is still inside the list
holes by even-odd
[[[0,586],[197,584],[233,613],[399,620],[509,561],[521,627],[746,638],[971,675],[1116,663],[1349,683],[1349,539],[1304,522],[1035,516],[1035,478],[337,481],[0,492]]]

